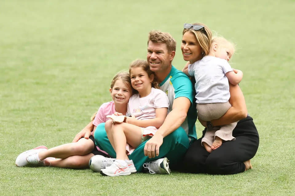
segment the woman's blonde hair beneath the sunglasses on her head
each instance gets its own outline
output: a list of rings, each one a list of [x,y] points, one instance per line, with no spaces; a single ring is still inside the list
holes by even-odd
[[[212,32],[211,30],[204,25],[203,23],[194,23],[192,25],[202,25],[204,28],[199,30],[194,30],[193,28],[185,28],[183,29],[182,35],[186,32],[192,32],[195,36],[197,41],[199,42],[200,46],[203,49],[202,58],[205,55],[209,54],[210,46],[211,46],[211,40],[212,40]]]

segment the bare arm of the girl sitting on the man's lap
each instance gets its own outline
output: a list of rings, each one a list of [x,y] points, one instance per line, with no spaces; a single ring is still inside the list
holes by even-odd
[[[135,117],[127,117],[127,123],[140,127],[154,126],[159,128],[167,116],[167,110],[167,107],[155,108],[156,117],[154,119],[137,120]]]

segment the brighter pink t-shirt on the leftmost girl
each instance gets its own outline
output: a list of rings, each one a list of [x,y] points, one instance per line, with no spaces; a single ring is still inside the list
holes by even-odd
[[[102,104],[98,111],[97,114],[93,120],[93,125],[97,126],[100,123],[105,123],[107,122],[107,120],[109,120],[109,118],[107,118],[107,115],[112,115],[116,112],[115,110],[115,102],[114,101],[110,101],[107,103]]]

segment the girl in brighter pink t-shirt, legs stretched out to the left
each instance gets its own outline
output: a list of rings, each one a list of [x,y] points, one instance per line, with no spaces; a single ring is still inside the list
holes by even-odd
[[[111,82],[110,93],[113,101],[102,104],[94,120],[94,116],[91,119],[94,125],[93,132],[98,124],[105,123],[109,120],[106,117],[107,115],[112,115],[116,112],[126,115],[127,104],[129,98],[132,96],[132,87],[128,72],[116,74]],[[88,168],[89,160],[94,155],[107,156],[104,151],[96,147],[94,138],[91,135],[89,139],[81,138],[77,142],[63,144],[51,149],[47,149],[45,146],[39,146],[35,149],[28,150],[17,157],[15,164],[18,167],[38,165],[60,168]]]

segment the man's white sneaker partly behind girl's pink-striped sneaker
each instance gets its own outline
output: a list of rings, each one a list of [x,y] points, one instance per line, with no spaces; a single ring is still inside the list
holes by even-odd
[[[92,171],[100,172],[101,169],[111,166],[115,160],[116,159],[107,158],[102,155],[95,155],[89,160],[89,168]]]

